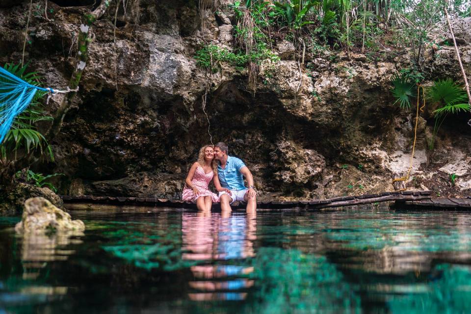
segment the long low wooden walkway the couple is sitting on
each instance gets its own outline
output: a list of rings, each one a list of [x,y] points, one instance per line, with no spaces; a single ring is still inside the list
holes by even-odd
[[[379,202],[419,202],[431,199],[431,191],[393,191],[376,194],[363,194],[358,196],[342,196],[326,200],[309,201],[260,201],[257,202],[258,209],[324,209],[344,206],[364,205]],[[109,204],[109,205],[140,205],[166,208],[196,209],[193,203],[181,200],[169,200],[163,198],[140,198],[140,197],[113,197],[113,196],[61,196],[65,204]],[[471,201],[471,199],[470,199]],[[234,209],[245,208],[245,203],[235,202]],[[213,204],[213,209],[220,209],[219,203]]]

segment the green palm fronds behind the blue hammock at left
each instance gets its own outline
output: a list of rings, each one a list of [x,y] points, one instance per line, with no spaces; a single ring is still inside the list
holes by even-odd
[[[20,67],[20,64],[14,65],[5,64],[4,69],[22,78],[26,82],[34,85],[40,79],[36,72],[26,72],[27,64]],[[0,78],[1,79],[1,78]],[[6,160],[11,153],[16,154],[20,149],[23,149],[27,154],[32,151],[39,150],[41,155],[46,153],[46,156],[51,160],[54,159],[52,149],[46,138],[41,132],[37,130],[34,124],[38,121],[51,121],[52,117],[44,114],[42,105],[39,99],[45,95],[45,92],[38,91],[31,101],[28,108],[18,115],[11,126],[10,131],[6,134],[3,142],[0,144],[0,154],[2,160]]]

